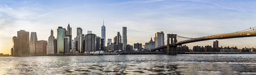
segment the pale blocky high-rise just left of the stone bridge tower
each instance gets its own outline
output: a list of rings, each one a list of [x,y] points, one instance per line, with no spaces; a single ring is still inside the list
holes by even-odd
[[[155,47],[164,46],[164,33],[157,32],[155,33]]]

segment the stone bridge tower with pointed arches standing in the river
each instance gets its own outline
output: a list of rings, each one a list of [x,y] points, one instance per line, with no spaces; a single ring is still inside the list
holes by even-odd
[[[177,42],[177,34],[167,34],[167,54],[176,54],[176,45],[170,45],[171,43],[176,43]],[[170,43],[170,38],[171,38],[171,43]],[[174,41],[173,41],[174,40]]]

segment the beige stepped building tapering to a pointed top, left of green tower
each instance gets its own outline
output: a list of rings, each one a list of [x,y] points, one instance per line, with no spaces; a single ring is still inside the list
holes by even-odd
[[[53,36],[53,30],[51,30],[51,35],[48,37],[48,43],[46,46],[46,54],[54,54],[57,52],[57,44],[56,39]]]

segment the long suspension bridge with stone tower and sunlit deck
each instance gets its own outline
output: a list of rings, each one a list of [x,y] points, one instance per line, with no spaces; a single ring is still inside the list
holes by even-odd
[[[255,37],[256,36],[256,30],[254,30],[255,27],[250,27],[245,30],[241,30],[238,32],[231,32],[231,33],[223,33],[223,34],[217,34],[217,35],[211,35],[211,36],[205,36],[205,37],[197,37],[197,38],[189,38],[189,37],[183,37],[179,36],[177,34],[167,34],[165,37],[165,41],[162,43],[165,43],[163,46],[159,46],[156,48],[153,48],[151,51],[156,51],[160,49],[167,49],[167,54],[176,54],[177,50],[176,47],[178,45],[191,43],[191,42],[199,42],[199,41],[205,41],[205,40],[213,40],[213,39],[229,39],[229,38],[239,38],[239,37]],[[177,37],[180,38],[187,38],[188,40],[183,41],[177,41]]]

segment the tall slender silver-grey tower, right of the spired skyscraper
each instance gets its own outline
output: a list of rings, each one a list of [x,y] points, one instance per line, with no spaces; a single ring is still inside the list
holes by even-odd
[[[127,45],[127,27],[123,27],[123,50],[126,50]]]

